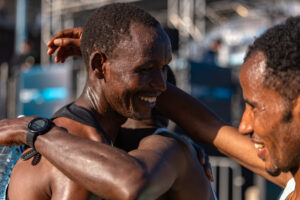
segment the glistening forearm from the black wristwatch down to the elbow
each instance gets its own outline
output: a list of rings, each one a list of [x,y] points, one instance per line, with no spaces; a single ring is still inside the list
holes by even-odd
[[[146,180],[143,166],[126,152],[57,127],[39,136],[35,147],[69,178],[107,199],[132,199]]]

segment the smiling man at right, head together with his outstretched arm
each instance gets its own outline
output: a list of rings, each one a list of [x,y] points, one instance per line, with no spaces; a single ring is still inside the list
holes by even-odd
[[[249,169],[285,186],[292,173],[295,191],[286,199],[300,199],[300,17],[268,29],[248,49],[240,71],[246,103],[239,132],[226,126],[199,102],[169,87],[160,108],[196,141],[213,144]],[[174,110],[167,101],[177,96]],[[183,119],[179,110],[189,113]],[[205,116],[205,117],[204,117]],[[253,158],[254,154],[264,162]],[[261,171],[261,166],[272,176]],[[281,199],[284,199],[283,197]]]

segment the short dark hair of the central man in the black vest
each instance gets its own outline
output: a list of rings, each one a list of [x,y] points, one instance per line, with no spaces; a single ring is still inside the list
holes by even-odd
[[[96,49],[110,56],[122,39],[130,39],[130,23],[156,27],[159,22],[141,8],[128,3],[114,3],[95,10],[82,33],[81,53],[88,66],[90,54]]]

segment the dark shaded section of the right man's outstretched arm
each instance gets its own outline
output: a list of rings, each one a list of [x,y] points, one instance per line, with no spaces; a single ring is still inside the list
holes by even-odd
[[[171,84],[160,95],[158,107],[196,142],[212,144],[219,129],[225,125],[206,106]]]

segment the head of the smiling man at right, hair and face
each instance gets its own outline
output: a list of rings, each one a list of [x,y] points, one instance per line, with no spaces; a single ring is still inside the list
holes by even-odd
[[[270,174],[290,171],[296,181],[300,167],[299,34],[299,17],[271,28],[250,46],[240,72],[246,108],[239,131],[251,136]]]

